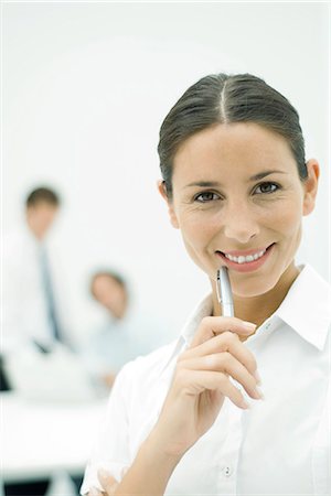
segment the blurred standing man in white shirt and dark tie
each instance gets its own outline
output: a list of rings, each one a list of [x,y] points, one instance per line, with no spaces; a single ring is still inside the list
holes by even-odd
[[[60,205],[60,197],[53,190],[33,190],[25,201],[24,223],[3,239],[1,391],[17,389],[7,368],[10,356],[13,357],[11,362],[20,367],[22,353],[29,353],[31,348],[33,353],[51,354],[58,343],[70,347],[63,319],[60,319],[54,270],[46,242]],[[29,370],[23,367],[22,373]],[[78,487],[81,477],[73,482]],[[4,494],[39,496],[44,495],[49,486],[49,478],[4,484]]]

